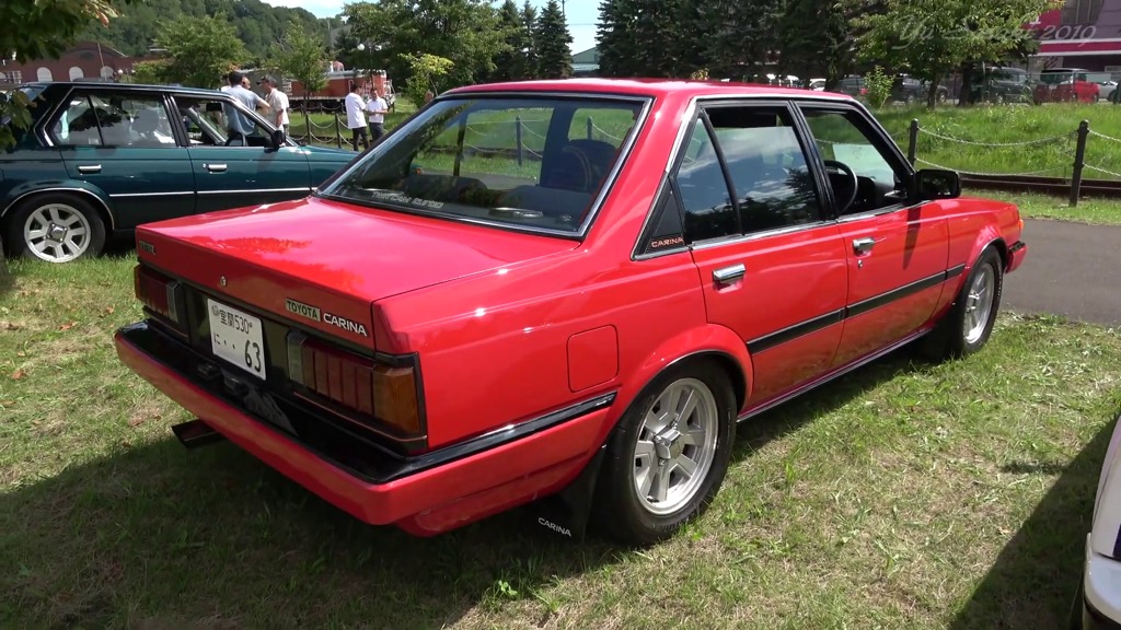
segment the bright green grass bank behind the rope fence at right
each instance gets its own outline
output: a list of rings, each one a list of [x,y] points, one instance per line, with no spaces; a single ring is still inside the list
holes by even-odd
[[[981,145],[944,140],[919,133],[917,157],[956,170],[992,174],[1040,173],[1047,177],[1069,177],[1074,164],[1075,136],[1078,123],[1090,121],[1090,129],[1112,139],[1090,136],[1086,140],[1087,166],[1121,173],[1121,106],[1087,104],[1047,104],[1041,106],[944,106],[934,111],[924,108],[887,108],[877,118],[888,129],[904,151],[908,145],[908,128],[912,118],[919,128],[946,138]],[[1011,143],[1062,138],[1030,146],[991,147],[984,143]],[[919,166],[929,164],[919,163]],[[1086,168],[1087,179],[1118,177]]]

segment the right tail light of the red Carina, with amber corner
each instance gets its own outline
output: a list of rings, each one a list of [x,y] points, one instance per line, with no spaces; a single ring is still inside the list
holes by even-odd
[[[389,429],[389,437],[405,442],[425,438],[415,363],[368,359],[293,331],[288,379],[297,386],[297,395],[321,406],[325,399],[342,408],[341,416],[365,428]]]

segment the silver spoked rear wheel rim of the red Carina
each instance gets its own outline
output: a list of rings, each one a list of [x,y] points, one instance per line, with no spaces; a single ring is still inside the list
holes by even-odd
[[[646,413],[634,445],[634,489],[655,515],[682,509],[701,489],[716,454],[716,399],[696,379],[674,381]]]

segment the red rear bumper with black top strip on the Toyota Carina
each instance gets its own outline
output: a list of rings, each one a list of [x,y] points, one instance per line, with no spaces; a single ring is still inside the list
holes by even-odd
[[[269,466],[371,525],[396,524],[418,535],[467,522],[556,492],[594,455],[614,395],[424,455],[406,457],[353,436],[263,387],[250,396],[288,420],[294,433],[251,414],[223,391],[221,379],[196,376],[212,360],[145,323],[114,335],[118,356],[170,399]],[[261,407],[253,407],[254,409]],[[343,448],[346,445],[349,448]]]

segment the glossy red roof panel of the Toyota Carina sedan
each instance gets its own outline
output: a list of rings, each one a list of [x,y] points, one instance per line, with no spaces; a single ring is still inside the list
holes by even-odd
[[[669,78],[559,78],[547,81],[517,81],[485,83],[448,90],[445,94],[482,92],[584,92],[596,94],[668,96],[670,94],[696,96],[791,96],[799,99],[852,100],[852,96],[828,92],[814,92],[798,87],[775,87],[751,83],[722,81],[682,81]]]

